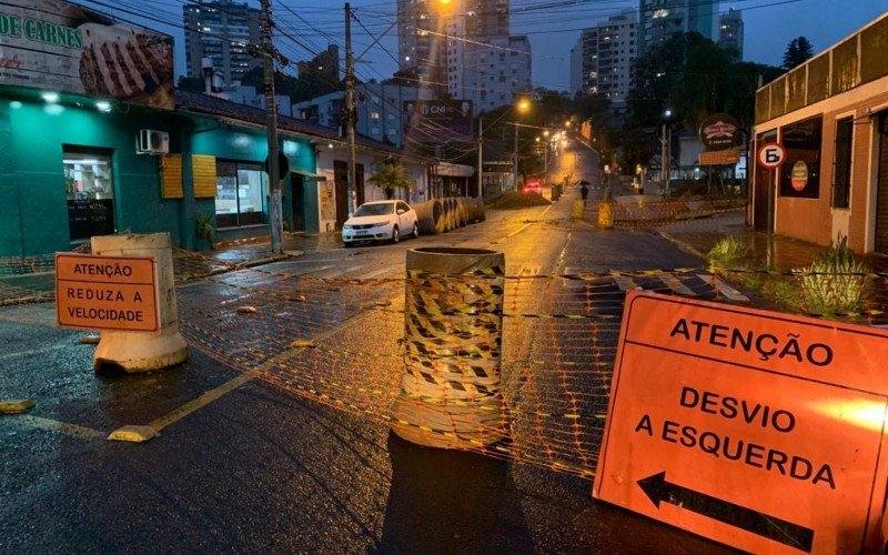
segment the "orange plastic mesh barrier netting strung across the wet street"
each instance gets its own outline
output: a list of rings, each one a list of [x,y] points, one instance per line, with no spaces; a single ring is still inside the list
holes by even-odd
[[[428,337],[430,345],[442,347],[435,360],[423,342],[405,342],[404,291],[411,280],[465,289],[468,301],[457,303],[461,310],[475,319],[502,317],[496,398],[508,424],[503,441],[487,444],[481,437],[502,434],[502,420],[467,420],[462,424],[474,426],[474,433],[465,434],[463,446],[585,477],[593,475],[598,456],[626,292],[741,304],[753,297],[757,306],[864,324],[885,323],[888,304],[888,274],[881,273],[668,269],[464,278],[416,271],[408,276],[351,279],[244,268],[193,253],[176,253],[174,265],[181,332],[192,349],[293,394],[444,437],[455,432],[442,430],[432,411],[427,421],[417,411],[418,420],[404,423],[393,413],[405,372],[437,364],[443,356],[446,364],[432,379],[446,382],[451,372],[463,374],[473,365],[488,364],[491,346],[473,347],[470,340],[461,349]],[[49,271],[13,275],[26,282],[46,276],[51,282]],[[491,287],[502,283],[502,307],[490,303],[490,295],[471,293],[468,280]],[[37,295],[27,290],[4,285],[0,292],[4,304],[36,302]],[[46,293],[40,301],[52,300],[51,291]],[[447,313],[443,306],[435,310]],[[7,306],[0,322],[28,322],[31,314],[31,306]],[[460,325],[444,331],[454,337],[473,333]],[[473,395],[485,393],[483,387],[466,394],[445,386],[423,402],[467,405],[476,401]]]

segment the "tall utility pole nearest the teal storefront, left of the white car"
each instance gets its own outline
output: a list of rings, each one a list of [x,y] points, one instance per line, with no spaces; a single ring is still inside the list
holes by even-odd
[[[283,213],[281,208],[281,179],[278,168],[278,105],[274,101],[274,43],[271,39],[271,0],[262,1],[262,59],[263,89],[268,110],[269,132],[269,212],[271,220],[271,251],[283,252]]]

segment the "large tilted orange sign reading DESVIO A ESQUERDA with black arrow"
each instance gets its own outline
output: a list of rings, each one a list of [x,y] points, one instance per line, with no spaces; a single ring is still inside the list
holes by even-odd
[[[633,292],[593,495],[753,553],[878,547],[888,332]]]

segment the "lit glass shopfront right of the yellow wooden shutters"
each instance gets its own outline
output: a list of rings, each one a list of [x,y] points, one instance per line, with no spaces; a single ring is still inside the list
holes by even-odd
[[[219,228],[265,223],[268,178],[260,164],[216,162],[215,220]]]

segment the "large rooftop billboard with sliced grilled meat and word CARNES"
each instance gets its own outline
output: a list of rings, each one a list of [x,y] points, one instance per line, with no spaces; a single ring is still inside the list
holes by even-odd
[[[68,2],[6,0],[0,84],[172,109],[173,40]]]

